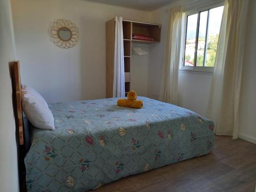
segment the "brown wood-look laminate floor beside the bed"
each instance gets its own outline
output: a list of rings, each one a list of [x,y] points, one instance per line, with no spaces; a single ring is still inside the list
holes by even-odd
[[[206,156],[122,178],[94,192],[106,191],[253,191],[256,185],[256,144],[216,136]]]

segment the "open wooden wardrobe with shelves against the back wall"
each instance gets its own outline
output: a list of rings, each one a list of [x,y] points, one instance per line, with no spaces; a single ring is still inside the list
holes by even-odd
[[[154,41],[133,39],[133,34],[141,34],[154,38]],[[132,43],[154,44],[161,41],[161,25],[123,20],[123,50],[125,96],[131,89],[131,56]],[[106,97],[113,97],[115,50],[115,19],[106,22]]]

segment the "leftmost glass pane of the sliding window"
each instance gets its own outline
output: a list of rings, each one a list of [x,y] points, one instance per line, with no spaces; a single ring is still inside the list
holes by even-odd
[[[187,16],[184,66],[194,66],[198,14]]]

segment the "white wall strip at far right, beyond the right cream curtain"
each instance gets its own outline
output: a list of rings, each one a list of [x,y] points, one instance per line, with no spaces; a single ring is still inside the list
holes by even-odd
[[[242,75],[239,137],[256,143],[256,1],[251,1]]]

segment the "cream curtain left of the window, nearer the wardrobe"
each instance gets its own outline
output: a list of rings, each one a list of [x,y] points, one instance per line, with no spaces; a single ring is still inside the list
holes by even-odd
[[[170,9],[166,41],[165,61],[160,99],[177,104],[178,75],[181,50],[182,12],[180,8]]]

